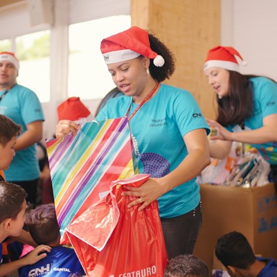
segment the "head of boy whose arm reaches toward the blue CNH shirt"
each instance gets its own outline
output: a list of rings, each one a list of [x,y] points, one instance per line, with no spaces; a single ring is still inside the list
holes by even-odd
[[[25,222],[26,191],[21,186],[0,182],[0,238],[17,236]]]

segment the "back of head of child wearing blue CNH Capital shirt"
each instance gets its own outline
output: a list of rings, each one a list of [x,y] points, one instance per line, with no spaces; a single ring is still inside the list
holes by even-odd
[[[28,231],[37,244],[51,247],[60,244],[60,228],[54,204],[45,204],[30,210],[26,215]]]

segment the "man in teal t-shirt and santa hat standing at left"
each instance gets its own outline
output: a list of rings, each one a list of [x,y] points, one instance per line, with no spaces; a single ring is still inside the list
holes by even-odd
[[[0,114],[21,125],[15,158],[6,170],[6,180],[18,184],[28,194],[29,206],[36,205],[40,171],[36,143],[42,139],[44,114],[35,92],[17,84],[19,60],[14,53],[0,53]]]

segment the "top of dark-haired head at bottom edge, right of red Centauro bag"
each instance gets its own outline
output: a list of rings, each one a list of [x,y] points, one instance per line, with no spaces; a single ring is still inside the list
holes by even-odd
[[[194,255],[179,255],[168,262],[164,277],[208,277],[208,267]]]

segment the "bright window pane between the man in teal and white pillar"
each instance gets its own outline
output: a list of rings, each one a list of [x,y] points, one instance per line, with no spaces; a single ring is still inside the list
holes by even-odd
[[[50,30],[15,39],[20,61],[18,84],[32,89],[40,102],[50,100]]]

